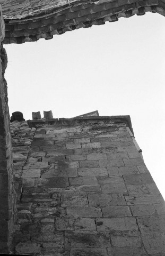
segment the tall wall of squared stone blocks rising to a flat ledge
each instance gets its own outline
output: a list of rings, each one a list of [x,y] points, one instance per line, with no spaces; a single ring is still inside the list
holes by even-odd
[[[123,119],[28,122],[13,253],[165,255],[164,200]]]

